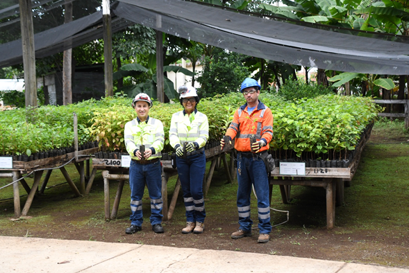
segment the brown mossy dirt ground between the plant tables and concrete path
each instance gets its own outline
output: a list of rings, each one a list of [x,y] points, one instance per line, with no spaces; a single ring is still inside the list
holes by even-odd
[[[370,143],[403,142],[406,139],[378,139],[372,136]],[[367,146],[362,155],[365,161],[365,152],[371,147]],[[391,156],[378,154],[379,158]],[[93,192],[103,191],[102,183],[95,185]],[[351,186],[352,188],[353,186]],[[115,189],[114,189],[115,191]],[[312,193],[311,202],[318,199],[319,209],[309,211],[308,206],[303,206],[299,200]],[[1,236],[33,236],[40,238],[58,238],[68,240],[97,240],[112,243],[137,243],[145,245],[164,245],[168,247],[194,247],[197,249],[225,249],[240,252],[253,252],[260,254],[297,256],[304,258],[317,258],[333,261],[349,261],[356,263],[374,263],[409,269],[409,229],[408,221],[403,224],[394,224],[393,227],[384,229],[382,224],[367,224],[367,227],[357,228],[356,222],[343,221],[349,216],[342,215],[337,208],[335,220],[336,227],[332,230],[326,229],[324,191],[307,189],[306,192],[297,195],[290,206],[279,204],[278,208],[290,210],[290,221],[278,227],[274,227],[269,243],[258,244],[258,230],[253,230],[253,236],[233,240],[231,232],[238,227],[237,209],[235,207],[235,196],[228,200],[212,200],[206,198],[206,229],[203,234],[181,234],[184,227],[184,211],[181,195],[179,195],[176,210],[172,220],[163,222],[164,234],[154,234],[149,224],[149,210],[144,209],[144,224],[142,231],[128,235],[125,229],[128,227],[129,209],[127,207],[128,195],[123,195],[121,209],[117,220],[106,222],[103,220],[103,202],[97,207],[92,197],[77,198],[63,196],[51,197],[53,210],[44,211],[44,204],[34,202],[30,215],[31,219],[9,221],[6,227],[0,227]],[[72,193],[70,194],[72,195]],[[113,195],[113,193],[112,193]],[[347,193],[346,193],[347,195]],[[103,195],[102,195],[103,196]],[[72,200],[72,204],[63,202],[66,198]],[[99,200],[100,201],[100,200]],[[144,201],[147,203],[148,199]],[[60,203],[61,202],[61,203]],[[79,204],[78,204],[79,202]],[[111,203],[112,206],[112,203]],[[253,206],[253,205],[252,205]],[[403,206],[407,206],[403,204]],[[148,206],[145,206],[146,208]],[[10,216],[12,201],[0,202],[3,215]],[[95,211],[99,213],[95,213]],[[342,210],[342,208],[341,208]],[[44,215],[45,213],[45,215]],[[253,220],[256,211],[252,211]],[[286,220],[285,213],[272,213],[274,224]],[[341,218],[340,218],[341,217]],[[392,216],[391,216],[392,217]],[[379,221],[387,222],[385,216],[380,216]],[[256,224],[253,225],[256,227]]]

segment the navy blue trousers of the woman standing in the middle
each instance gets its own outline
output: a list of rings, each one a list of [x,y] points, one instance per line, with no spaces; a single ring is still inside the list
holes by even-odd
[[[206,170],[206,155],[189,155],[186,158],[176,157],[179,179],[183,189],[186,221],[204,222],[206,211],[203,199],[203,177]]]

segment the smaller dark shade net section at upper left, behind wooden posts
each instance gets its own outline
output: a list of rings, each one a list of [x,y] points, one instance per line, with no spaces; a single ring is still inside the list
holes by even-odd
[[[46,12],[45,10],[54,12],[53,14],[46,12],[47,16],[40,16],[42,18],[33,14],[35,58],[44,58],[103,37],[101,1],[90,0],[87,4],[78,0],[69,0],[68,2],[73,4],[74,18],[73,21],[65,24],[63,8],[67,1],[33,1],[33,7],[42,4],[36,12]],[[12,14],[11,17],[10,14]],[[0,42],[3,42],[3,44],[0,44],[0,67],[8,67],[23,62],[18,5],[3,7],[0,10],[0,18],[2,16],[3,19],[0,20]],[[18,28],[10,27],[11,25],[8,22],[16,19],[18,24],[15,22],[12,24],[17,24]],[[134,23],[131,21],[113,16],[112,32],[115,33],[132,24]],[[39,29],[42,31],[36,31]],[[18,39],[12,39],[11,42],[8,42],[10,37],[17,37]]]

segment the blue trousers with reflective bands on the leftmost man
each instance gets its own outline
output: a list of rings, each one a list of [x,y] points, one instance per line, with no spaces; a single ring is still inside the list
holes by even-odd
[[[142,197],[145,184],[148,186],[151,198],[151,224],[162,222],[162,166],[160,161],[153,164],[137,164],[131,161],[129,166],[129,186],[131,187],[131,224],[141,227],[142,222]]]

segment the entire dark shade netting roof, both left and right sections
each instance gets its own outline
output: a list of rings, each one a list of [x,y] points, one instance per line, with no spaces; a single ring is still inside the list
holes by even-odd
[[[65,2],[32,0],[36,58],[103,37],[101,0],[68,0],[73,4],[74,21],[67,24]],[[336,71],[409,75],[409,37],[284,21],[194,1],[119,0],[111,8],[112,33],[137,23],[267,60]],[[20,32],[18,0],[1,0],[0,67],[22,63]]]

